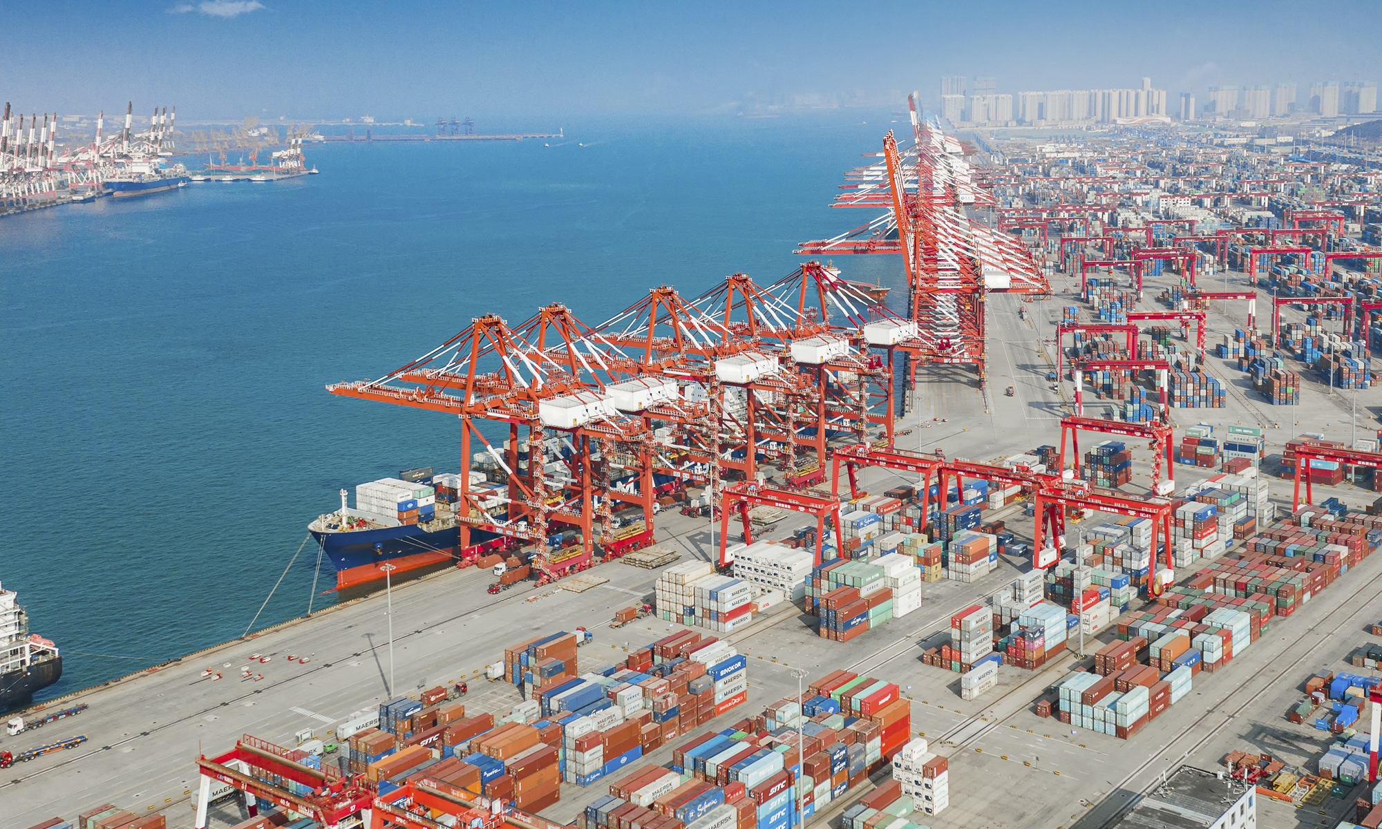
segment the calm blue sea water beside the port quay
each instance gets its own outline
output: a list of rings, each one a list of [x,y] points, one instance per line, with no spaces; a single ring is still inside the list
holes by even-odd
[[[872,218],[829,202],[900,127],[837,111],[310,145],[319,175],[0,220],[0,582],[64,648],[40,699],[240,636],[340,488],[460,468],[456,419],[325,384],[484,312],[561,300],[596,325],[658,285],[773,282],[796,242]],[[836,264],[902,283],[896,257]],[[307,609],[315,564],[308,543],[256,627]]]

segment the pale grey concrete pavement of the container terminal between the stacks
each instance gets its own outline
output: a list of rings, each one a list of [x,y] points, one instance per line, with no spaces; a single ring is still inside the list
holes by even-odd
[[[1019,307],[1030,311],[1027,319],[1017,318]],[[990,312],[996,323],[994,330],[1002,332],[995,336],[991,366],[1003,366],[1017,394],[985,399],[962,383],[927,384],[918,412],[898,424],[901,431],[912,430],[898,438],[900,445],[915,439],[918,449],[940,446],[948,456],[987,460],[1052,442],[1061,399],[1043,381],[1046,363],[1039,350],[1059,305],[1020,305],[1014,297],[994,297]],[[1227,321],[1236,322],[1241,321]],[[1039,369],[1032,370],[1034,363]],[[1230,398],[1224,409],[1189,414],[1194,423],[1220,427],[1252,423],[1251,412],[1236,405]],[[1184,413],[1173,412],[1177,414]],[[1273,430],[1269,441],[1280,445],[1289,434],[1336,428],[1334,423],[1339,419],[1338,412],[1331,413],[1323,405],[1300,406],[1296,414],[1295,424]],[[1133,486],[1147,486],[1142,452],[1136,460]],[[1177,486],[1209,473],[1177,467]],[[914,482],[883,470],[860,473],[860,485],[871,492]],[[1316,500],[1329,495],[1352,506],[1367,497],[1349,488],[1318,486]],[[1271,481],[1271,496],[1278,508],[1288,510],[1289,482]],[[1020,539],[1030,537],[1031,518],[1024,518],[1019,506],[994,517],[1006,520]],[[990,520],[987,513],[985,520]],[[784,529],[795,526],[792,521],[782,524]],[[781,531],[768,537],[773,535]],[[684,558],[710,560],[714,554],[703,520],[663,513],[658,540]],[[983,602],[1030,569],[1025,560],[1001,557],[998,572],[972,583],[929,583],[920,609],[850,644],[822,640],[811,619],[786,608],[726,638],[749,658],[746,710],[750,712],[784,696],[795,698],[793,669],[814,677],[839,667],[897,683],[912,702],[914,731],[931,739],[934,752],[951,757],[949,808],[929,818],[927,825],[1054,828],[1071,826],[1078,819],[1082,826],[1101,826],[1166,768],[1182,760],[1213,768],[1219,757],[1242,747],[1244,735],[1252,734],[1258,724],[1280,718],[1299,698],[1295,685],[1317,665],[1342,659],[1359,644],[1352,634],[1382,612],[1379,566],[1379,557],[1365,558],[1292,618],[1277,620],[1269,638],[1230,666],[1202,674],[1206,676],[1202,681],[1197,677],[1187,701],[1126,742],[1081,728],[1071,734],[1068,725],[1032,712],[1034,701],[1068,671],[1074,662],[1070,655],[1048,660],[1036,671],[1003,666],[998,687],[973,702],[960,699],[958,676],[920,662],[918,644],[923,638],[943,633],[954,613]],[[636,648],[681,629],[643,619],[611,630],[607,623],[618,608],[651,598],[658,572],[619,562],[591,572],[609,580],[585,593],[549,587],[488,595],[485,587],[491,579],[474,568],[446,571],[398,587],[394,600],[398,692],[416,694],[467,678],[471,688],[464,701],[467,713],[488,709],[503,714],[520,702],[518,694],[502,683],[477,680],[477,671],[499,659],[514,641],[585,626],[596,633],[596,641],[582,649],[582,659],[597,665],[618,662],[626,647]],[[529,597],[536,598],[527,601]],[[243,734],[292,745],[294,734],[304,728],[325,732],[351,712],[392,696],[387,688],[384,604],[383,594],[372,595],[250,641],[228,642],[79,694],[77,702],[91,707],[76,727],[90,741],[80,749],[11,770],[8,779],[0,782],[0,826],[23,829],[54,815],[70,819],[102,803],[138,814],[162,811],[170,826],[191,826],[195,812],[188,794],[196,790],[198,753],[225,752]],[[256,669],[264,680],[235,678],[235,669],[256,652],[271,656],[271,662]],[[289,662],[289,654],[307,655],[310,662]],[[220,681],[203,678],[200,674],[213,666],[231,670]],[[732,713],[727,717],[726,724],[738,718]],[[720,720],[710,725],[716,724]],[[6,736],[0,749],[26,747],[26,736]],[[655,753],[643,763],[668,761]],[[996,779],[1003,786],[1001,797],[992,796]],[[561,801],[543,815],[557,822],[571,821],[598,793],[603,793],[598,785],[564,786]],[[1081,800],[1090,807],[1079,806]],[[243,817],[243,811],[213,807],[211,825],[232,825]]]

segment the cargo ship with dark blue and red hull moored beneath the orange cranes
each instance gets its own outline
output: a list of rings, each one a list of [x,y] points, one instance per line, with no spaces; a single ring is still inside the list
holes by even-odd
[[[435,484],[435,485],[434,485]],[[504,546],[503,536],[470,531],[460,549],[453,504],[459,475],[433,475],[431,468],[408,470],[355,488],[355,507],[347,504],[308,524],[312,539],[336,568],[336,589],[384,578],[383,564],[399,573],[484,555]]]

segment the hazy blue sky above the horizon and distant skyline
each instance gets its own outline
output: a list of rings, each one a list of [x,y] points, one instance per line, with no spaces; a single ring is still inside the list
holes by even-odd
[[[1382,3],[70,0],[10,10],[0,98],[184,119],[547,122],[998,90],[1382,80]],[[1300,90],[1302,98],[1305,90]],[[797,98],[793,98],[797,97]]]

